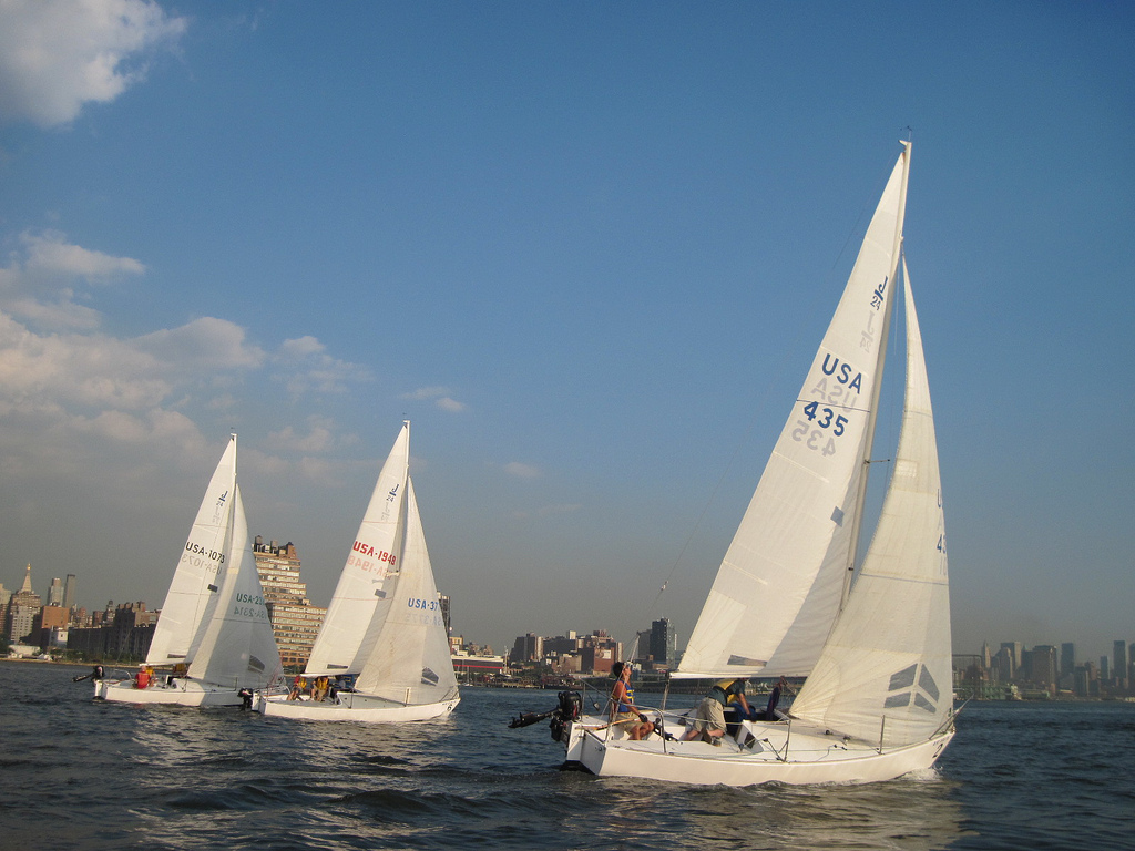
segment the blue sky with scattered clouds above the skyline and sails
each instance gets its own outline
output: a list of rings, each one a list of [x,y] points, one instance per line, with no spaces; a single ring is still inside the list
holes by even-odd
[[[955,651],[1135,641],[1107,1],[0,0],[0,582],[157,607],[235,431],[327,605],[407,419],[455,633],[682,644],[908,137]]]

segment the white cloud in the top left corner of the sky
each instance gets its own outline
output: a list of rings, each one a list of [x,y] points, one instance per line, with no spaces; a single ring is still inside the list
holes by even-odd
[[[0,0],[0,120],[54,127],[112,101],[186,27],[151,0]]]

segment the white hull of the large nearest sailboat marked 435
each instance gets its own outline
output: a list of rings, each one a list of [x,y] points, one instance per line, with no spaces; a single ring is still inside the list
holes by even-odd
[[[568,730],[568,762],[591,774],[698,785],[750,786],[760,783],[875,783],[930,768],[953,738],[949,730],[928,741],[892,750],[844,741],[794,723],[746,722],[720,745],[701,741],[641,742],[608,736],[598,718],[582,718]],[[745,742],[745,744],[739,744]],[[787,748],[787,751],[785,751]],[[787,759],[784,755],[787,752]]]

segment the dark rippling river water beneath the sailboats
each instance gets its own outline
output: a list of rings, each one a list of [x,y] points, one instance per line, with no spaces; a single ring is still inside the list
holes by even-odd
[[[1135,849],[1135,705],[970,703],[935,770],[698,787],[560,772],[554,692],[393,727],[140,709],[0,663],[0,849]],[[650,705],[656,696],[640,693]]]

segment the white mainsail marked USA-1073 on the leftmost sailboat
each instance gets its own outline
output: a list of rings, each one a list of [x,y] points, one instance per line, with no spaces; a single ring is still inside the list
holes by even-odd
[[[220,568],[228,557],[228,536],[236,489],[236,435],[213,471],[190,536],[182,548],[174,579],[161,605],[150,665],[190,663],[216,605]]]

